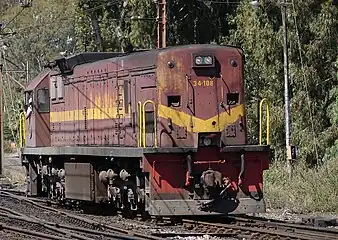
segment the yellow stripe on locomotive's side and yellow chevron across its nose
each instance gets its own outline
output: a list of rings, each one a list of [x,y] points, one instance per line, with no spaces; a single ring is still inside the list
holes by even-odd
[[[124,113],[124,110],[120,111]],[[185,112],[177,111],[164,105],[158,106],[158,117],[172,119],[174,125],[180,127],[187,127],[188,132],[219,132],[226,125],[232,124],[237,121],[239,116],[244,116],[244,105],[239,105],[227,112],[221,113],[219,116],[214,116],[209,119],[203,120],[191,116]],[[126,118],[130,118],[130,114],[124,114]],[[117,118],[117,108],[89,108],[87,109],[87,120],[105,120]],[[63,112],[51,112],[50,122],[68,122],[68,121],[84,121],[84,110],[71,110]],[[212,122],[216,122],[215,125]],[[193,128],[191,128],[191,125]]]

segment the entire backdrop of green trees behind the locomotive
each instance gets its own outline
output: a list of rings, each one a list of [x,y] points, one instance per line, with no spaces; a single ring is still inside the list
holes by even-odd
[[[266,97],[271,105],[272,145],[277,158],[284,159],[283,31],[278,1],[260,1],[262,7],[256,10],[248,0],[241,1],[239,6],[188,0],[167,2],[168,45],[215,42],[244,49],[250,142],[258,142],[257,98]],[[337,60],[338,10],[320,0],[294,2],[287,14],[292,142],[299,147],[301,160],[312,163],[317,157],[328,160],[338,153],[335,143],[338,89],[332,64]],[[4,15],[7,21],[19,11],[13,6],[10,0],[0,4],[2,9],[7,9]],[[138,16],[143,20],[132,20]],[[155,18],[153,0],[57,3],[36,0],[33,8],[25,10],[7,29],[18,32],[6,40],[10,45],[7,59],[15,64],[8,63],[8,67],[22,70],[28,61],[31,76],[35,76],[60,52],[99,51],[93,31],[96,20],[104,51],[126,51],[129,44],[135,48],[155,48]],[[25,82],[24,74],[14,77]],[[5,83],[10,84],[10,80]],[[11,84],[13,87],[14,83]],[[13,92],[21,94],[20,88]],[[18,96],[13,93],[15,106],[21,104]],[[11,102],[8,96],[9,106]],[[17,115],[19,108],[13,109]],[[15,121],[9,122],[13,128]]]

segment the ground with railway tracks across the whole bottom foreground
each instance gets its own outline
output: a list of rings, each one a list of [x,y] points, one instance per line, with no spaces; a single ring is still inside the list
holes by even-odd
[[[5,161],[7,174],[20,174],[18,161]],[[6,171],[5,171],[6,173]],[[9,179],[8,181],[10,181]],[[93,214],[27,198],[19,190],[0,191],[0,239],[337,239],[338,227],[318,227],[258,217],[155,219]],[[331,220],[332,221],[332,220]]]

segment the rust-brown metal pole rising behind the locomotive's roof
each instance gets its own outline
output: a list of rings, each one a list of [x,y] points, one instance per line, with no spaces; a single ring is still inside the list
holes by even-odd
[[[156,0],[156,3],[157,3],[157,48],[166,48],[167,47],[167,1]]]

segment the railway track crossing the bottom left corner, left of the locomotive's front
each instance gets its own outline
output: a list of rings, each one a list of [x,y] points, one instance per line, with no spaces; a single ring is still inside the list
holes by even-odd
[[[8,198],[10,198],[11,201],[8,201]],[[0,191],[0,203],[2,206],[0,208],[0,222],[5,224],[15,222],[15,226],[19,225],[23,227],[28,226],[33,229],[37,228],[38,231],[36,232],[49,231],[50,234],[58,234],[61,238],[62,235],[66,235],[67,237],[70,236],[72,239],[82,240],[163,239],[156,236],[138,233],[132,230],[101,224],[75,214],[44,206],[41,204],[42,201],[35,202],[31,199],[17,196],[9,192]],[[13,231],[15,230],[13,229]],[[18,230],[18,232],[20,231]]]

